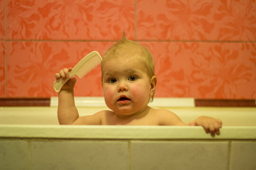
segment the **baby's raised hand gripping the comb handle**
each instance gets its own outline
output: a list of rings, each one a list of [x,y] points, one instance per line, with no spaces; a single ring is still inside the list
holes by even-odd
[[[62,78],[63,80],[66,80],[67,77],[69,77],[69,72],[72,70],[72,68],[64,68],[63,70],[60,70],[60,72],[55,74],[55,78],[60,79]],[[76,76],[72,76],[66,83],[63,85],[61,88],[62,90],[73,90],[74,85],[76,82]]]

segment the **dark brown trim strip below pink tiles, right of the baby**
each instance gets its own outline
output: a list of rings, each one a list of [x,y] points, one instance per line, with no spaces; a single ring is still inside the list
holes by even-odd
[[[195,106],[256,107],[255,99],[195,99]]]

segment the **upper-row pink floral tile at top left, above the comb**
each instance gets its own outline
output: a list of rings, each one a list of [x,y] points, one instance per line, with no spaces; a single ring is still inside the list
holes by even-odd
[[[8,0],[8,39],[134,37],[134,0]]]

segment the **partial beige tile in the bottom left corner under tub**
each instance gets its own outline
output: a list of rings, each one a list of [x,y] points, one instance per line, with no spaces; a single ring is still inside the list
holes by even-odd
[[[0,170],[27,170],[27,141],[0,139]]]

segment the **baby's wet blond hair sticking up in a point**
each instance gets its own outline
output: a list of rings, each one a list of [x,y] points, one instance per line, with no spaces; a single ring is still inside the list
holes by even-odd
[[[110,59],[115,59],[121,56],[138,57],[139,59],[141,59],[142,63],[144,64],[147,70],[148,77],[151,79],[153,76],[155,76],[155,64],[154,64],[154,59],[151,52],[147,49],[146,46],[143,46],[138,42],[131,41],[128,38],[126,38],[124,33],[122,38],[117,43],[112,45],[110,49],[107,50],[103,55],[103,59],[101,63],[101,82],[103,78],[102,70],[105,62],[109,61]],[[153,102],[154,94],[149,102]]]

